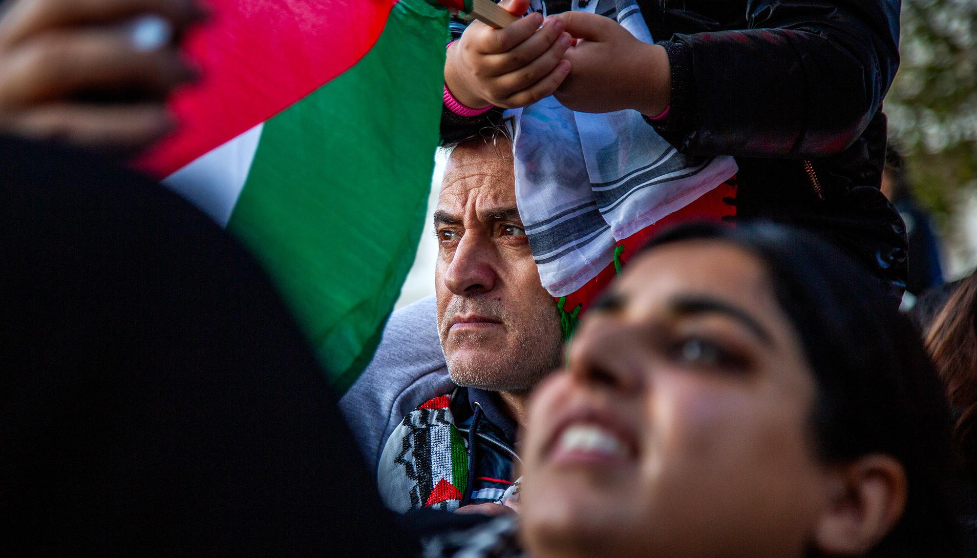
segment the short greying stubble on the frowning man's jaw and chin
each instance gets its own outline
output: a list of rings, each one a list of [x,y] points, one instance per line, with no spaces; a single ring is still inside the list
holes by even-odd
[[[456,302],[457,301],[457,302]],[[480,362],[452,360],[447,350],[445,361],[451,380],[465,387],[477,387],[489,391],[522,391],[534,387],[549,373],[556,370],[563,354],[563,334],[560,330],[560,313],[556,302],[549,300],[547,308],[536,312],[524,328],[512,329],[512,321],[502,305],[495,300],[453,299],[448,304],[446,316],[453,316],[462,308],[481,315],[499,319],[506,328],[506,337],[515,334],[515,345],[506,343],[501,350],[491,352]],[[490,311],[486,311],[490,310]],[[477,336],[478,334],[474,334]],[[447,336],[443,339],[447,339]],[[469,340],[468,342],[472,342]],[[489,356],[491,358],[489,358]]]

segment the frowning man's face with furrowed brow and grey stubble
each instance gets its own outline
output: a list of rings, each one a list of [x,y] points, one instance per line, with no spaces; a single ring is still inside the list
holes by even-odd
[[[560,320],[516,210],[508,143],[456,147],[435,213],[438,331],[459,385],[531,388],[559,365]]]

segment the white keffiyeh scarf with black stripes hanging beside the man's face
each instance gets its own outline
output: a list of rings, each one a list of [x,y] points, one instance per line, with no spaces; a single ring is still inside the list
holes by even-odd
[[[634,0],[573,0],[572,9],[615,18],[652,42]],[[546,11],[542,0],[533,0],[531,10]],[[737,171],[733,157],[679,153],[635,110],[575,112],[549,97],[505,117],[514,138],[519,213],[542,284],[558,299],[573,298],[608,269],[625,239]]]

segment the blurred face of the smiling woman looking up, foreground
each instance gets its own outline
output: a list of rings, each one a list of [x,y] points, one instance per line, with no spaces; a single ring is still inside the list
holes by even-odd
[[[761,262],[718,241],[636,259],[540,385],[533,556],[802,556],[828,505],[815,383]]]

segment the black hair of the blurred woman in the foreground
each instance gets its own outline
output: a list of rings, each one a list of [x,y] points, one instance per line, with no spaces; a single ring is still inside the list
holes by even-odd
[[[764,263],[817,383],[812,425],[821,457],[843,462],[881,453],[905,467],[906,510],[868,556],[959,555],[943,386],[879,282],[812,234],[771,223],[680,225],[645,250],[697,240],[728,243]]]

